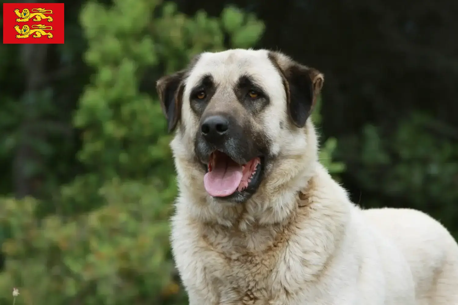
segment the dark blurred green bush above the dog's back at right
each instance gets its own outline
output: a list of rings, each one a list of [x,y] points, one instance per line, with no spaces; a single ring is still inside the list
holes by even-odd
[[[363,200],[366,207],[386,206],[385,200],[403,198],[399,207],[428,211],[443,223],[453,224],[458,206],[450,203],[458,202],[458,163],[452,160],[458,160],[458,144],[450,137],[456,137],[453,130],[414,113],[393,132],[365,126],[360,138],[354,135],[342,141],[339,154],[349,160],[360,187],[381,199]],[[458,236],[457,227],[448,227]]]

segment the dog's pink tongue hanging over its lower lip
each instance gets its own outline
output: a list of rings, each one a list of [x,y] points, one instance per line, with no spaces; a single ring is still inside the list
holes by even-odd
[[[242,181],[243,168],[232,160],[216,162],[212,171],[203,177],[207,193],[213,197],[226,197],[233,194]]]

